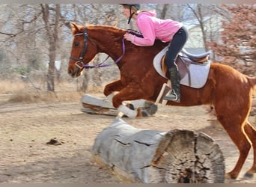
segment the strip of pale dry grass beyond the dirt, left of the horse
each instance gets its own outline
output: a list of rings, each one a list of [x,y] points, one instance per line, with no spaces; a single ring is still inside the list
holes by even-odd
[[[55,85],[55,92],[45,91],[43,88],[35,88],[30,82],[0,82],[0,101],[4,102],[77,102],[80,101],[82,91],[76,91],[76,85],[61,82]],[[89,86],[86,93],[102,93],[103,88]]]

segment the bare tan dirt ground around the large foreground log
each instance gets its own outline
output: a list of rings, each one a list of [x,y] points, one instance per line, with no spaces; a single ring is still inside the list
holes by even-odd
[[[0,183],[122,183],[91,157],[94,138],[115,117],[83,113],[79,98],[29,104],[8,98],[0,95]],[[124,120],[141,129],[205,132],[222,148],[226,171],[237,162],[237,148],[205,106],[159,105],[153,117]],[[256,115],[250,121],[256,126]],[[47,144],[53,138],[61,144]],[[225,183],[256,183],[256,175],[243,178],[251,165],[252,150],[239,178]]]

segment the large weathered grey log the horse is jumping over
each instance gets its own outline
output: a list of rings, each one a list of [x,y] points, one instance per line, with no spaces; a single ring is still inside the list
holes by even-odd
[[[202,132],[136,129],[115,119],[92,149],[95,161],[131,183],[224,183],[219,145]]]

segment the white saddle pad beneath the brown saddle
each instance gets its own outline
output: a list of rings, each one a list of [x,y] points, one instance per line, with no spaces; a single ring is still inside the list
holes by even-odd
[[[166,46],[164,49],[162,49],[161,52],[159,52],[155,58],[153,59],[153,66],[156,69],[156,72],[159,73],[160,76],[164,77],[165,79],[168,79],[165,77],[165,73],[162,72],[161,68],[161,59],[163,55],[165,55],[165,52],[168,50],[168,46]],[[180,80],[181,85],[186,85],[191,88],[202,88],[204,87],[205,83],[207,82],[207,77],[210,70],[210,62],[207,61],[204,64],[189,64],[189,72],[191,76],[191,85],[189,85],[189,74],[186,73],[186,76],[183,77],[183,79]]]

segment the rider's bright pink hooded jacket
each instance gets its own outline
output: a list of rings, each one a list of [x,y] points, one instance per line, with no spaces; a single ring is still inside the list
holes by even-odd
[[[169,42],[182,27],[181,22],[156,18],[156,13],[149,11],[138,13],[136,25],[144,37],[132,36],[131,42],[136,46],[153,46],[156,39]]]

